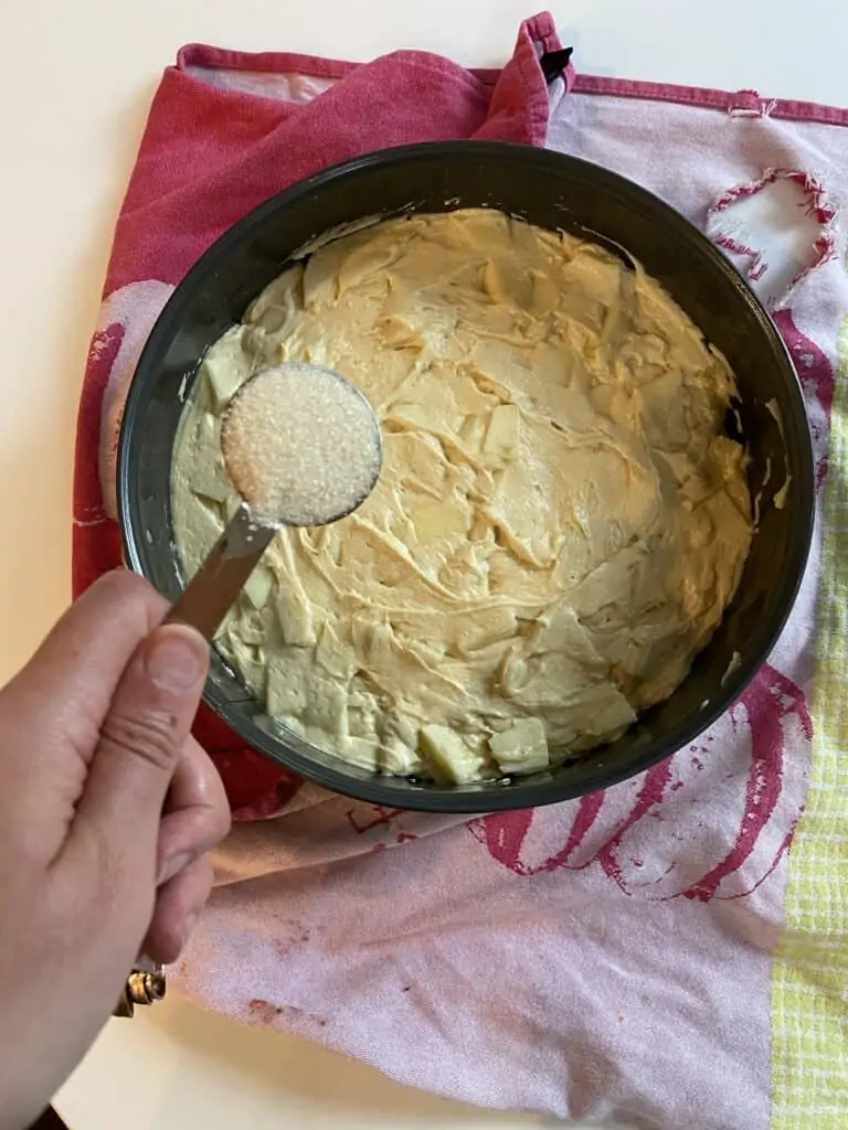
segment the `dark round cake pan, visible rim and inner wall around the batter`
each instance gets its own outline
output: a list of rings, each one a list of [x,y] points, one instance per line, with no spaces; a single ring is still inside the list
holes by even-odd
[[[269,718],[213,655],[206,699],[249,745],[329,789],[395,808],[481,812],[546,805],[634,776],[690,744],[742,694],[773,647],[812,536],[813,459],[798,380],[775,324],[725,257],[673,208],[607,169],[525,146],[445,141],[366,154],[293,185],[226,232],[176,288],[150,333],[123,415],[118,489],[133,570],[171,600],[179,596],[184,579],[172,531],[171,457],[187,382],[292,255],[321,233],[366,217],[479,207],[632,254],[663,284],[736,373],[741,402],[728,427],[738,418],[760,516],[736,597],[672,697],[612,745],[508,783],[451,786],[349,765]],[[787,480],[786,498],[776,504]]]

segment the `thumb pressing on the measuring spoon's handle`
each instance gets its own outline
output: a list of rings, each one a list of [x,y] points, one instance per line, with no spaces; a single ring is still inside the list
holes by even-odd
[[[208,669],[204,637],[168,624],[139,644],[118,684],[73,823],[98,832],[119,867],[129,854],[156,866],[162,806]]]

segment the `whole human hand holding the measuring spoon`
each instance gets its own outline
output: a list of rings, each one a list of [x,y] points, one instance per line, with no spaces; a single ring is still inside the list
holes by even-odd
[[[34,1119],[140,951],[179,955],[230,812],[189,730],[208,647],[102,577],[0,690],[0,1130]]]

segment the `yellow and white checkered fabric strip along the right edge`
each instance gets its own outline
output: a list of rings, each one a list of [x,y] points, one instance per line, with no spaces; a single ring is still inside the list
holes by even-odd
[[[848,1130],[848,319],[838,351],[813,762],[771,982],[772,1130]]]

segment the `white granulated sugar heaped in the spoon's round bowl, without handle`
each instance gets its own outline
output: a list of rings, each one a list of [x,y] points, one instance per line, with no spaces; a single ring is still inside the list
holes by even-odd
[[[380,473],[380,425],[337,373],[287,363],[233,398],[222,427],[233,485],[263,525],[326,525],[369,496]]]

